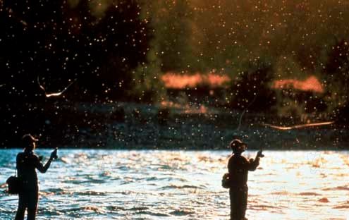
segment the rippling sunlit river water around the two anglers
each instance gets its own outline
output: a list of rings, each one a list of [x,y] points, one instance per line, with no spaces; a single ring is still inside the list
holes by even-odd
[[[18,152],[0,150],[0,219],[16,213],[18,198],[7,195],[3,183],[14,173]],[[39,173],[37,219],[228,219],[221,176],[229,154],[61,149],[49,171]],[[249,174],[247,218],[349,217],[349,152],[264,154],[259,169]]]

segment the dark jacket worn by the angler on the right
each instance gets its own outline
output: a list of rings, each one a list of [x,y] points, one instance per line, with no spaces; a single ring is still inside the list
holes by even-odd
[[[247,186],[248,171],[255,171],[259,165],[259,157],[248,161],[241,154],[233,154],[228,161],[231,185]]]

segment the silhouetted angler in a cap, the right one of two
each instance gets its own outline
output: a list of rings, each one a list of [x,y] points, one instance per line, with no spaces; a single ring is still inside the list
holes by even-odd
[[[241,155],[247,149],[247,145],[238,139],[232,140],[230,147],[233,150],[233,154],[228,161],[231,220],[245,220],[248,192],[247,174],[248,171],[257,169],[259,158],[264,157],[264,155],[262,150],[259,150],[255,159],[247,160]]]

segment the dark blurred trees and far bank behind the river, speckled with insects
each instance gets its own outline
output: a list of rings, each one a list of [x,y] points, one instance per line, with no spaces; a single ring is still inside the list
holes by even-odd
[[[0,0],[0,146],[348,149],[348,9]]]

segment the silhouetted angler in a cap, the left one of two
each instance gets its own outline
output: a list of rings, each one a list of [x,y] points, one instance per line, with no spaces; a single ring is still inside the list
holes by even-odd
[[[39,186],[37,184],[37,172],[45,173],[53,159],[57,158],[57,149],[51,152],[51,157],[45,165],[42,164],[39,157],[34,154],[35,142],[38,140],[32,135],[24,135],[23,152],[17,154],[16,168],[20,180],[20,189],[18,192],[18,209],[16,220],[24,219],[25,209],[27,209],[27,220],[35,219],[37,213],[37,202],[39,199]]]

